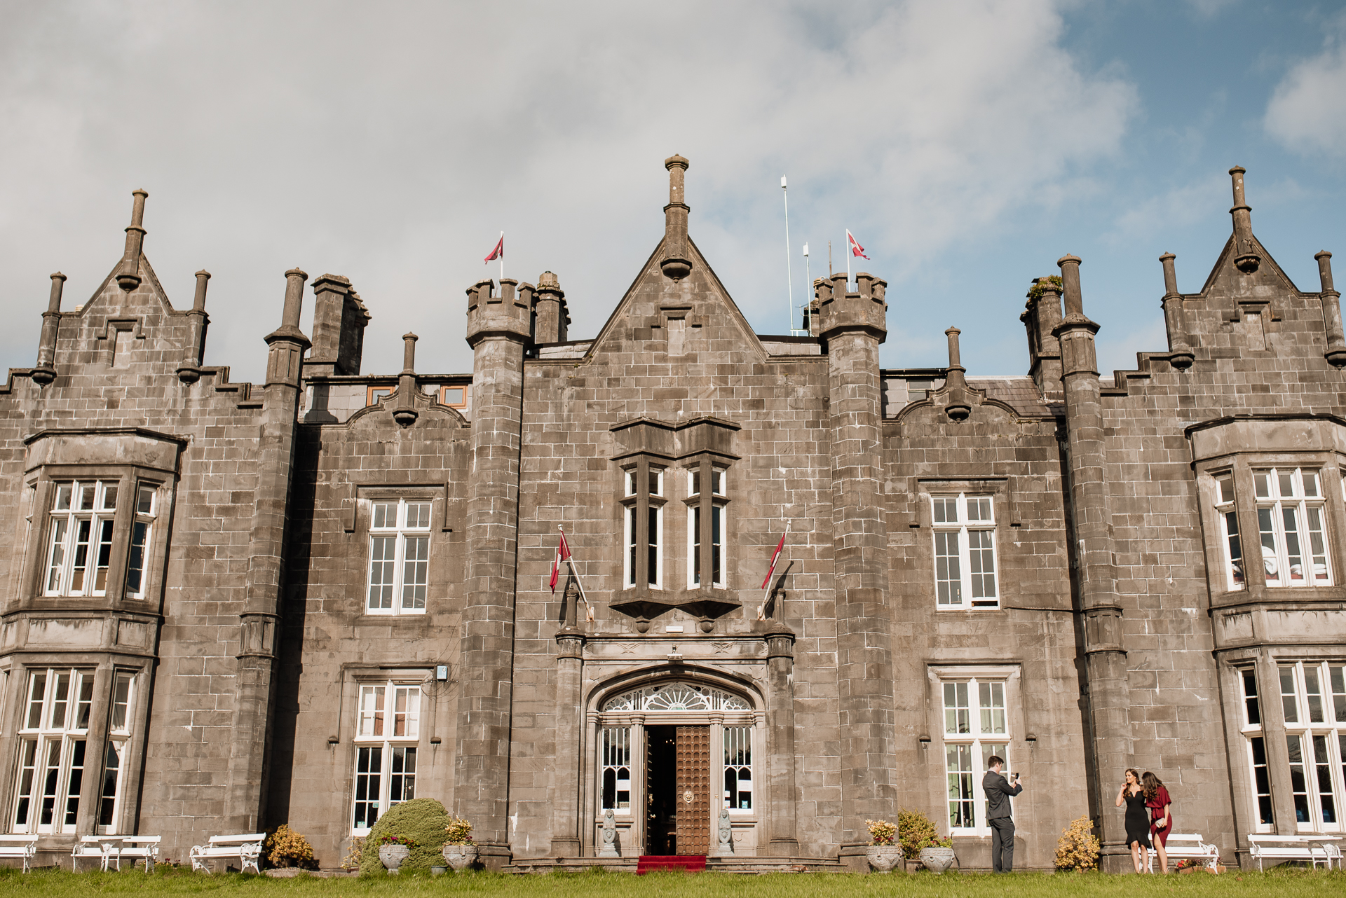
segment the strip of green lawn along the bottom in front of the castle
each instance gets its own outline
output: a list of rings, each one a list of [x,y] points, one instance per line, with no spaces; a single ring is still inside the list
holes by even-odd
[[[1265,874],[1226,872],[1168,876],[1105,876],[1100,874],[448,874],[443,876],[370,876],[292,879],[242,874],[206,875],[160,867],[144,872],[82,872],[39,870],[30,874],[0,870],[0,898],[94,898],[97,895],[211,895],[234,898],[433,898],[462,894],[471,898],[868,898],[871,895],[948,895],[949,898],[1320,898],[1346,895],[1346,874],[1276,870]]]

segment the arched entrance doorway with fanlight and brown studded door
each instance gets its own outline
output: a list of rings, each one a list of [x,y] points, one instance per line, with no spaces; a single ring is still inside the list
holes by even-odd
[[[596,711],[595,819],[614,812],[622,854],[711,854],[721,808],[736,831],[755,828],[760,715],[744,695],[662,679]]]

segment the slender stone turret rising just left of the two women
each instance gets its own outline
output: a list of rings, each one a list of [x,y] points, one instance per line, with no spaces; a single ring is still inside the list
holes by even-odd
[[[1089,729],[1093,733],[1097,769],[1094,807],[1106,807],[1113,785],[1120,782],[1131,760],[1129,687],[1127,652],[1123,648],[1121,606],[1112,566],[1112,515],[1104,484],[1104,418],[1100,401],[1094,335],[1098,325],[1085,317],[1079,292],[1079,259],[1062,257],[1061,278],[1066,315],[1053,333],[1061,341],[1062,383],[1066,398],[1066,441],[1070,465],[1073,539],[1084,616],[1085,669],[1089,683]],[[1102,815],[1104,855],[1125,854],[1124,821]]]

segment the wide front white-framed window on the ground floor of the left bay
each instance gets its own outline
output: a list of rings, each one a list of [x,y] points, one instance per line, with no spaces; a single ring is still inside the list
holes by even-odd
[[[93,671],[43,668],[28,672],[13,832],[74,832],[87,762]]]

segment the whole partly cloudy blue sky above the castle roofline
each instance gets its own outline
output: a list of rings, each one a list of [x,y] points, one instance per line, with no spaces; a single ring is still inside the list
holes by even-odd
[[[463,290],[559,274],[596,333],[662,231],[664,157],[748,319],[785,331],[844,231],[888,289],[883,364],[1027,368],[1030,281],[1084,258],[1104,372],[1166,348],[1158,257],[1201,288],[1228,169],[1300,289],[1346,265],[1339,3],[192,4],[0,0],[4,364],[50,281],[83,302],[149,191],[147,254],[179,308],[213,273],[209,364],[262,374],[284,270],[350,277],[365,370],[467,371]],[[1346,277],[1346,276],[1343,276]],[[311,294],[310,294],[311,297]],[[311,305],[311,298],[308,300]],[[308,309],[311,312],[311,308]],[[307,316],[306,316],[307,317]]]

